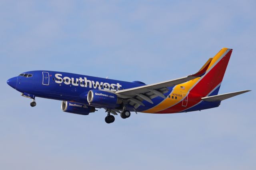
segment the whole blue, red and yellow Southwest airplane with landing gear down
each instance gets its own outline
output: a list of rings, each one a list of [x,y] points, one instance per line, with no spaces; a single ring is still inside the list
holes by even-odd
[[[27,71],[8,79],[7,84],[23,97],[60,100],[67,113],[89,115],[103,108],[106,123],[131,112],[186,113],[218,107],[222,100],[250,90],[218,95],[232,49],[222,48],[195,74],[146,85],[141,81],[119,81],[59,71]]]

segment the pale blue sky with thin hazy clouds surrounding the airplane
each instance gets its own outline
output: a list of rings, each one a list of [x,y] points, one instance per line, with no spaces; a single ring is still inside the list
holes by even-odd
[[[0,167],[254,169],[255,1],[0,1]],[[195,73],[222,47],[233,53],[220,93],[252,92],[218,108],[132,114],[104,122],[64,113],[6,84],[54,70],[155,83]]]

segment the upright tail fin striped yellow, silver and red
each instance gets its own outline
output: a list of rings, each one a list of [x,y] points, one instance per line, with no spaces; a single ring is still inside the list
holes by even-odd
[[[224,77],[232,49],[222,48],[213,58],[210,58],[196,74],[201,74],[200,80],[190,93],[202,96],[217,95]],[[195,76],[198,76],[195,75]]]

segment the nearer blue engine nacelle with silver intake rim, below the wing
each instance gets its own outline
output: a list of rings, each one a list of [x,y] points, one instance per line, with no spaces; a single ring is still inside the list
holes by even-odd
[[[118,106],[122,100],[116,94],[102,90],[90,90],[87,95],[88,103],[97,106]]]

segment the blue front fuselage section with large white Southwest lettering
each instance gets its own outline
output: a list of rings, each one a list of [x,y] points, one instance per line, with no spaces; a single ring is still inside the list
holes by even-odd
[[[32,76],[28,77],[29,74]],[[145,85],[140,81],[127,82],[58,71],[28,71],[8,81],[17,91],[34,97],[74,101],[86,105],[88,91],[92,89],[118,91]],[[154,103],[159,103],[162,98],[156,97],[153,100]],[[147,102],[145,104],[145,107],[141,106],[138,111],[152,107]]]

